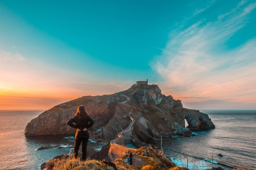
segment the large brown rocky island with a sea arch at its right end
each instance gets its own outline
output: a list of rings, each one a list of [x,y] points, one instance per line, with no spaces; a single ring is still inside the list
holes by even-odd
[[[95,124],[90,129],[95,140],[113,140],[134,119],[132,141],[136,146],[154,143],[159,135],[190,135],[190,130],[215,126],[208,115],[182,107],[180,100],[165,96],[156,85],[133,85],[113,95],[84,96],[43,112],[32,120],[25,134],[67,134],[75,129],[66,125],[79,105],[84,105]],[[189,129],[185,128],[185,119]]]

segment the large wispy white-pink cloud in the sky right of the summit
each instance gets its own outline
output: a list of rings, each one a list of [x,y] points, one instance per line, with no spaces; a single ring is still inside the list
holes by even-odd
[[[255,7],[254,3],[242,1],[216,21],[202,19],[176,35],[170,33],[163,55],[152,65],[165,79],[159,84],[164,87],[162,91],[190,104],[191,97],[210,98],[195,101],[202,105],[225,98],[236,103],[255,101],[256,39],[225,49],[229,38],[246,25]],[[231,103],[235,101],[226,104]]]

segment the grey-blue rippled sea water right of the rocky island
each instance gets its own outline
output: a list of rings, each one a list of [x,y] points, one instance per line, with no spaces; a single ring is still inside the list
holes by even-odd
[[[164,138],[164,155],[178,166],[207,169],[222,166],[256,168],[256,111],[207,111],[216,128],[195,137]],[[161,142],[157,141],[158,147]],[[218,154],[223,157],[217,156]]]

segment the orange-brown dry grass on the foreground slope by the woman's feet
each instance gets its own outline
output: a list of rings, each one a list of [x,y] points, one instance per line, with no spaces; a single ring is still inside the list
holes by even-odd
[[[176,165],[171,162],[170,159],[164,157],[163,155],[158,154],[151,147],[142,147],[137,149],[133,153],[134,160],[138,165],[131,166],[130,164],[124,163],[124,159],[127,155],[122,155],[120,159],[116,159],[114,163],[118,170],[166,170],[171,168],[171,170],[185,170],[184,168],[175,167]],[[133,160],[133,163],[134,163]],[[90,169],[90,170],[101,170],[108,169],[113,170],[112,167],[107,167],[102,165],[98,160],[86,160],[80,161],[79,159],[75,159],[72,157],[63,157],[63,158],[55,158],[46,163],[46,169],[52,170],[78,170],[78,169]],[[249,170],[249,169],[248,169]]]

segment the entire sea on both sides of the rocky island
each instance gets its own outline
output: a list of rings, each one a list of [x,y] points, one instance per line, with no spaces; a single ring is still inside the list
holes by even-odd
[[[157,140],[177,166],[204,170],[221,166],[256,168],[256,110],[201,110],[216,128],[193,132],[195,137]],[[0,111],[0,169],[40,169],[55,156],[72,154],[74,135],[25,137],[26,125],[42,111]],[[90,140],[89,147],[100,150],[106,143]],[[37,150],[40,147],[59,147]],[[218,156],[221,154],[222,157]]]

